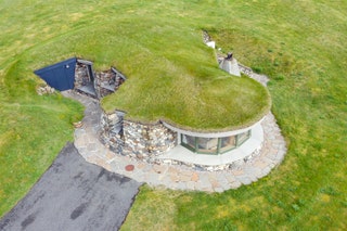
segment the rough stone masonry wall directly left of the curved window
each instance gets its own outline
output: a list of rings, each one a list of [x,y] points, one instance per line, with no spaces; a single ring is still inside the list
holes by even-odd
[[[100,140],[116,153],[153,163],[177,145],[177,132],[160,123],[142,125],[123,120],[116,113],[102,113]]]

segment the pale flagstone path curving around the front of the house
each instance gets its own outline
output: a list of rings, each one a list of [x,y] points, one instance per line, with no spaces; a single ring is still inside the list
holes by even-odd
[[[79,153],[90,163],[139,182],[146,182],[151,187],[206,192],[236,189],[268,175],[282,162],[286,153],[285,141],[270,113],[262,121],[265,142],[261,153],[247,163],[240,163],[235,169],[214,172],[197,171],[185,166],[138,162],[113,153],[99,141],[101,108],[98,101],[73,91],[64,92],[64,94],[78,100],[86,106],[83,126],[75,130],[75,146]],[[134,169],[127,171],[125,168],[127,165],[133,165]]]

